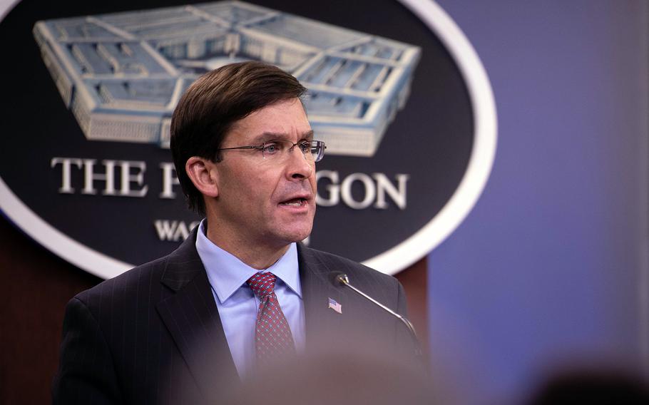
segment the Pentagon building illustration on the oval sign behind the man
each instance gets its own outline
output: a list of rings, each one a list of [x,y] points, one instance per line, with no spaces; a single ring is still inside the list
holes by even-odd
[[[34,36],[88,140],[168,148],[173,108],[201,74],[257,60],[309,89],[327,153],[372,156],[409,96],[420,49],[242,1],[39,21]]]

